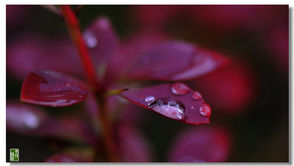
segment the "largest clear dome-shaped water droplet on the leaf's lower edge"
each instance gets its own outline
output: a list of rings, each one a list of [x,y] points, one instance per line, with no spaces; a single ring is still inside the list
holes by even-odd
[[[186,108],[184,104],[173,97],[163,97],[152,102],[148,108],[172,119],[186,118]]]

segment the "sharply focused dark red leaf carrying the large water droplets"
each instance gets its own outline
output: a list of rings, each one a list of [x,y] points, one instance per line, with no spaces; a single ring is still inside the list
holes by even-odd
[[[204,100],[202,97],[200,99],[195,97],[195,94],[197,96],[201,94],[193,90],[186,94],[175,94],[172,87],[176,84],[178,83],[130,89],[121,93],[121,96],[141,107],[177,121],[189,124],[209,123],[210,117],[204,117],[200,113],[200,107],[205,104]],[[181,84],[189,88],[186,84]],[[211,112],[211,110],[206,111]]]

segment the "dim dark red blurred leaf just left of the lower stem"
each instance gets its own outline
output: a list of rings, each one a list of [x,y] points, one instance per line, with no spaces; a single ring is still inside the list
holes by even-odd
[[[40,132],[40,135],[72,142],[95,143],[89,124],[81,119],[70,116],[51,119]]]

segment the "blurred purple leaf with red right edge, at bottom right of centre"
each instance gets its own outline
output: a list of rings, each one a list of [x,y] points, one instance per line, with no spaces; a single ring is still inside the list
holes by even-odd
[[[171,143],[167,162],[226,162],[230,146],[230,133],[223,127],[188,128]]]

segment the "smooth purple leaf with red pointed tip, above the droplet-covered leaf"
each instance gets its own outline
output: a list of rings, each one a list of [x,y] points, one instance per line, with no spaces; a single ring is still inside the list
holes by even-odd
[[[216,52],[182,41],[167,41],[142,54],[127,76],[131,79],[189,80],[227,62]]]

